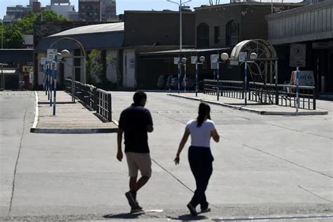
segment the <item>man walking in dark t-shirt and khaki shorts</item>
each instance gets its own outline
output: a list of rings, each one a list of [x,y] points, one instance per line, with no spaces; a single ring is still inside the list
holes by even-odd
[[[148,132],[153,131],[152,116],[145,108],[147,95],[144,91],[136,91],[134,103],[122,111],[119,119],[117,135],[117,159],[122,161],[122,133],[124,132],[125,155],[129,166],[129,192],[125,193],[131,213],[143,211],[136,200],[136,192],[148,182],[152,174],[152,162],[148,147]],[[138,178],[138,170],[141,178]]]

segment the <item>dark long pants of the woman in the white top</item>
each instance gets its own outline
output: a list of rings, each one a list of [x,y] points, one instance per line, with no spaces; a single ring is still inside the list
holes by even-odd
[[[213,161],[210,148],[190,146],[188,149],[188,162],[190,162],[190,168],[197,184],[197,190],[190,201],[192,207],[197,207],[198,204],[201,205],[201,209],[208,207],[204,192],[213,172]]]

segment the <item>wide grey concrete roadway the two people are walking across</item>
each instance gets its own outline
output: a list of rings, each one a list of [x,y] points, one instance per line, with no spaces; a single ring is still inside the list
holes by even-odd
[[[0,219],[136,218],[128,214],[126,162],[115,159],[115,133],[30,133],[34,93],[0,94]],[[113,93],[114,119],[132,94]],[[332,104],[318,101],[331,112],[312,117],[261,116],[211,105],[221,142],[212,145],[214,173],[207,192],[212,211],[200,219],[332,215]],[[155,123],[149,137],[153,175],[138,200],[145,209],[164,211],[139,221],[194,219],[185,209],[195,188],[186,153],[180,166],[172,160],[197,105],[148,93]]]

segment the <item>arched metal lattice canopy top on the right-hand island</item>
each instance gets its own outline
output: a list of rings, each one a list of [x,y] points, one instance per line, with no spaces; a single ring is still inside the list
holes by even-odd
[[[230,59],[238,60],[240,52],[256,53],[258,59],[277,59],[275,48],[263,39],[241,41],[231,51]]]

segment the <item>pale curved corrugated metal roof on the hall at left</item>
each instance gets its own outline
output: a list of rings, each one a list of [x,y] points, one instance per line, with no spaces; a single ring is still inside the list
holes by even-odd
[[[70,30],[63,32],[58,32],[57,34],[52,34],[48,37],[60,37],[60,36],[69,36],[77,34],[93,34],[100,32],[124,32],[124,22],[116,23],[106,23],[98,25],[85,25],[81,27],[75,27]]]

